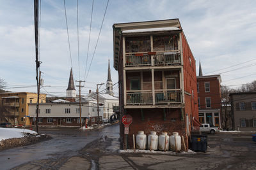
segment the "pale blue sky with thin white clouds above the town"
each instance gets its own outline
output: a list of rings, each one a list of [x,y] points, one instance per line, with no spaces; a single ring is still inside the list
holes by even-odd
[[[72,67],[75,81],[86,80],[82,94],[87,94],[89,89],[96,89],[97,83],[106,84],[108,59],[112,80],[116,83],[113,24],[171,18],[180,20],[196,59],[196,74],[200,61],[204,75],[221,74],[221,84],[230,88],[256,79],[256,1],[109,0],[99,36],[107,2],[78,0],[78,57],[77,3],[65,1],[70,58],[63,0],[41,1],[40,70],[44,79],[41,92],[49,96],[65,96]],[[6,81],[6,90],[36,92],[33,1],[0,0],[0,21],[0,78]],[[88,73],[86,79],[84,73]],[[100,90],[105,88],[102,85]],[[114,92],[118,95],[116,85]]]

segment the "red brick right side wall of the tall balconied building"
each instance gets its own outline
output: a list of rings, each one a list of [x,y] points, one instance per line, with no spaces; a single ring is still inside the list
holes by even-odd
[[[184,90],[191,94],[185,95],[185,113],[190,115],[198,120],[198,105],[197,105],[197,91],[196,91],[196,64],[195,59],[193,57],[193,53],[191,52],[188,41],[182,32],[182,50],[183,50],[183,68],[184,68]],[[190,59],[190,60],[189,60]],[[192,92],[193,90],[193,92]],[[191,122],[193,125],[193,122]],[[195,125],[193,125],[195,126]]]

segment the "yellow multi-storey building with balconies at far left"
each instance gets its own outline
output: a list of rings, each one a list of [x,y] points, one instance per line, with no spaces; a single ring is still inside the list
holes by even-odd
[[[0,93],[1,122],[10,122],[13,125],[30,125],[28,117],[28,103],[36,103],[37,94],[31,92],[4,92]],[[40,94],[39,103],[46,102],[46,94]]]

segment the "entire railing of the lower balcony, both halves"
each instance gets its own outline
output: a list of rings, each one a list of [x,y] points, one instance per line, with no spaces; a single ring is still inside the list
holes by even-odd
[[[180,89],[155,90],[155,104],[181,104],[182,93]],[[127,105],[152,105],[153,96],[151,90],[127,91]]]

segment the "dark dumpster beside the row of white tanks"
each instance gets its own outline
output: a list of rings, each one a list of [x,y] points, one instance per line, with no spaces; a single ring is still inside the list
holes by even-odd
[[[191,150],[205,152],[207,150],[207,135],[191,135]]]

